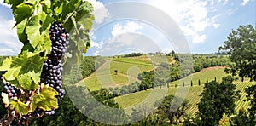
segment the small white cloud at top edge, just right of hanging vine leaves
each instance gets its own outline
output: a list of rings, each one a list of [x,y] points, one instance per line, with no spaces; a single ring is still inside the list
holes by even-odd
[[[105,8],[102,2],[96,0],[87,0],[94,8],[94,15],[96,23],[101,24],[109,16],[108,9]]]

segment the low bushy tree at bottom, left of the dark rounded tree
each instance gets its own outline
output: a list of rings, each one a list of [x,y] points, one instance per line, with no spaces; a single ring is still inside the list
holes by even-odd
[[[155,106],[158,107],[154,113],[160,115],[163,120],[168,119],[171,124],[177,124],[180,117],[185,114],[185,111],[190,105],[189,100],[183,100],[182,98],[178,98],[173,95],[167,95],[164,100],[157,101]]]

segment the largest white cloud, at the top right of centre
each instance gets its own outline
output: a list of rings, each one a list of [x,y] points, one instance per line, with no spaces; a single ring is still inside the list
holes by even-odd
[[[207,26],[212,26],[212,21],[207,17],[207,4],[213,3],[201,0],[151,0],[150,4],[169,14],[184,34],[192,38],[192,43],[204,43],[206,35],[202,32]]]

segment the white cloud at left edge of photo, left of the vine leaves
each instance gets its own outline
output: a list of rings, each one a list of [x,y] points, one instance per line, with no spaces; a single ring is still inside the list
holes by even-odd
[[[0,19],[0,55],[16,55],[20,52],[22,43],[18,40],[14,25],[14,20]]]

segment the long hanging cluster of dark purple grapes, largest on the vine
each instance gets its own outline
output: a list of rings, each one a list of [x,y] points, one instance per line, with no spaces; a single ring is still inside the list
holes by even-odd
[[[65,90],[62,89],[62,75],[63,65],[61,58],[67,51],[69,34],[61,25],[61,23],[53,23],[49,29],[49,37],[52,41],[52,51],[48,56],[48,60],[44,62],[43,72],[41,78],[43,83],[49,84],[54,88],[61,98],[64,97]]]

